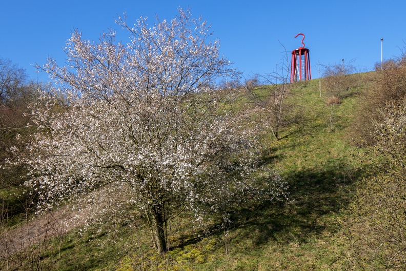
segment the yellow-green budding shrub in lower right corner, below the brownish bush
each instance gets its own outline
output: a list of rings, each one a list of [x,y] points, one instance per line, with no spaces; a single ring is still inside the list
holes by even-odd
[[[406,264],[406,99],[388,103],[380,114],[383,121],[373,127],[376,146],[368,156],[376,172],[363,180],[353,204],[355,261],[369,270],[381,262],[400,270]]]

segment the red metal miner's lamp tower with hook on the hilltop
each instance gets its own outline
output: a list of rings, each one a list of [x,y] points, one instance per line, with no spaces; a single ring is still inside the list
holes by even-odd
[[[298,49],[292,51],[291,83],[312,79],[312,74],[310,71],[309,49],[304,48],[304,34],[299,33],[295,37],[297,37],[298,35],[303,36],[301,41],[303,47],[299,47]]]

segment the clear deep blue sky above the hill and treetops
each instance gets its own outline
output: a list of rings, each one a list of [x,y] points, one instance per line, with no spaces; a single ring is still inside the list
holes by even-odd
[[[280,63],[285,46],[290,52],[304,43],[310,49],[313,78],[317,62],[323,65],[355,60],[359,71],[372,70],[383,59],[401,54],[406,45],[404,12],[406,1],[2,1],[0,57],[26,69],[33,80],[47,81],[33,64],[43,65],[47,57],[65,62],[63,48],[73,29],[88,40],[97,40],[109,27],[121,31],[114,18],[127,12],[128,22],[155,15],[170,20],[177,8],[190,8],[193,17],[202,15],[219,38],[221,53],[234,67],[250,73],[271,73]],[[283,46],[282,46],[283,45]]]

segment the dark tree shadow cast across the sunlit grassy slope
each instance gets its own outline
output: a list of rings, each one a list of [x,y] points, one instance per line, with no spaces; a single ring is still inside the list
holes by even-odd
[[[307,242],[311,236],[324,231],[334,233],[339,225],[332,217],[337,216],[351,201],[350,188],[362,171],[349,168],[344,161],[331,160],[330,166],[320,169],[298,169],[285,172],[283,178],[289,183],[291,201],[262,203],[254,209],[241,206],[233,213],[234,242],[250,240],[261,246],[270,240],[282,243]],[[206,234],[220,236],[224,228],[218,223]],[[203,233],[201,233],[203,234]],[[194,244],[201,239],[182,236],[176,247]],[[252,247],[247,248],[252,249]]]

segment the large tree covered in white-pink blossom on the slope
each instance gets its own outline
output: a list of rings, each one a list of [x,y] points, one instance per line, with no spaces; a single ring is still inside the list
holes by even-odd
[[[230,93],[214,87],[236,73],[206,22],[179,9],[171,22],[153,27],[144,18],[134,26],[126,17],[117,23],[130,33],[128,44],[116,42],[114,31],[99,42],[75,31],[67,66],[50,59],[39,67],[66,99],[44,93],[46,105],[33,109],[38,132],[24,160],[26,185],[44,205],[91,192],[122,197],[145,214],[164,253],[174,210],[197,214],[199,204],[217,210],[238,191],[267,199],[285,193],[279,179],[272,187],[250,186],[257,157],[251,134],[224,99]]]

